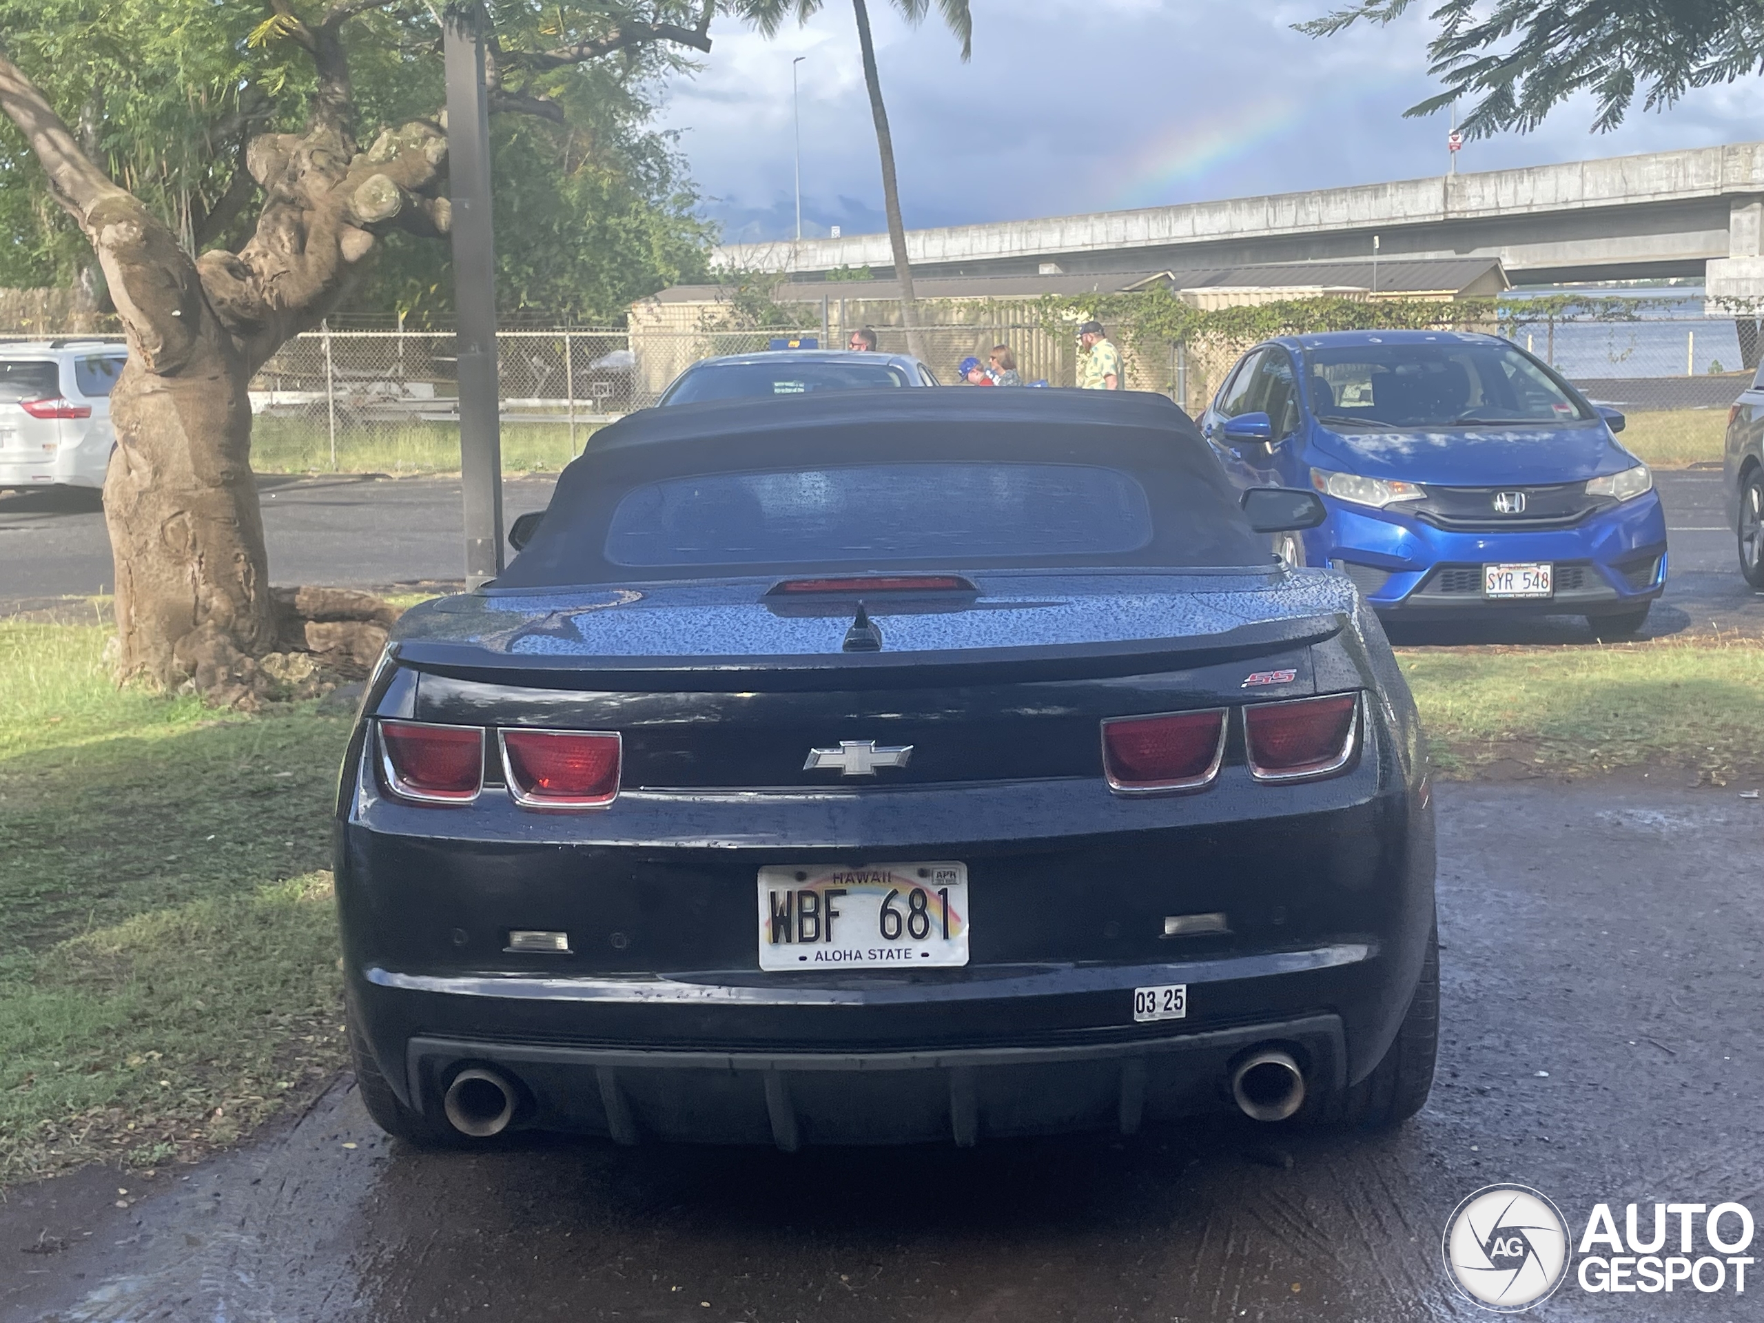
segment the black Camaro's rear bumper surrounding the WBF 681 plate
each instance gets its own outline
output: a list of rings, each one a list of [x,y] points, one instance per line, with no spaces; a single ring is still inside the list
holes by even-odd
[[[1230,1108],[1231,1058],[1275,1043],[1330,1090],[1383,1057],[1434,917],[1432,810],[1381,720],[1341,776],[1230,764],[1145,799],[1065,778],[429,810],[381,797],[358,751],[335,856],[349,1013],[423,1113],[490,1065],[542,1129],[965,1143]],[[760,868],[916,859],[967,864],[970,965],[759,968]],[[1214,912],[1230,931],[1166,938]],[[568,949],[512,953],[510,928]],[[1189,988],[1187,1016],[1134,1023],[1159,984]]]

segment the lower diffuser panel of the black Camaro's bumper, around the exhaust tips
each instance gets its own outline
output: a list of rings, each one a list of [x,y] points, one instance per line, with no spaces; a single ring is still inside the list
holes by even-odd
[[[1307,1087],[1341,1088],[1341,1020],[1318,1014],[1132,1043],[944,1051],[644,1051],[413,1037],[406,1087],[434,1106],[460,1065],[517,1081],[517,1124],[619,1143],[871,1145],[1118,1129],[1226,1106],[1237,1057],[1279,1043]]]

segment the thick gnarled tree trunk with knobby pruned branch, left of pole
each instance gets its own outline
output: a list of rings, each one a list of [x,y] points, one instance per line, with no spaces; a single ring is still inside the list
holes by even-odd
[[[439,235],[450,222],[443,131],[407,123],[356,152],[330,122],[346,104],[332,95],[303,136],[256,138],[247,164],[266,196],[256,235],[238,254],[192,258],[0,56],[0,111],[90,240],[129,340],[104,480],[120,679],[189,683],[247,706],[273,688],[256,662],[288,621],[270,594],[247,385],[349,293],[377,235]]]

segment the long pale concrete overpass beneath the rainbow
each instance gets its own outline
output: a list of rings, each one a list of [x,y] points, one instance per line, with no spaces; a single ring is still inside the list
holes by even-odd
[[[1764,143],[907,231],[914,275],[1499,258],[1515,284],[1706,277],[1764,296]],[[893,273],[887,235],[734,243],[725,265]]]

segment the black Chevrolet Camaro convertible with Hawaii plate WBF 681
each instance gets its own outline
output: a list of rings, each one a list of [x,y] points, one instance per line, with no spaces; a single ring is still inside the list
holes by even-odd
[[[688,404],[399,624],[337,896],[390,1132],[954,1141],[1432,1081],[1434,841],[1372,614],[1155,395]]]

